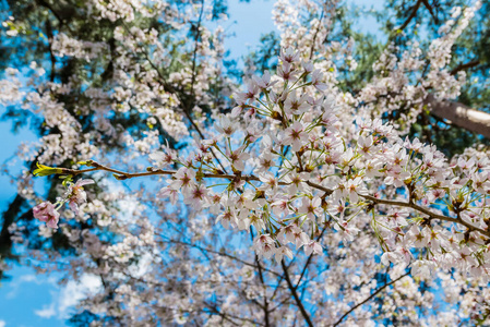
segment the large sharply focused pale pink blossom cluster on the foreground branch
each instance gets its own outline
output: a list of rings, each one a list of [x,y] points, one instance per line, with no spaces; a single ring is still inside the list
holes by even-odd
[[[342,100],[322,72],[292,49],[279,60],[276,75],[255,77],[235,96],[217,135],[193,156],[153,156],[184,166],[160,193],[174,201],[181,193],[195,209],[220,209],[216,220],[225,226],[254,226],[254,249],[265,257],[291,256],[289,242],[320,253],[314,235],[322,227],[352,240],[356,221],[370,219],[383,262],[415,262],[415,274],[441,266],[487,275],[489,159],[449,162],[380,119],[355,121],[348,138],[340,133]],[[219,184],[206,177],[228,180],[225,192],[213,192]]]

